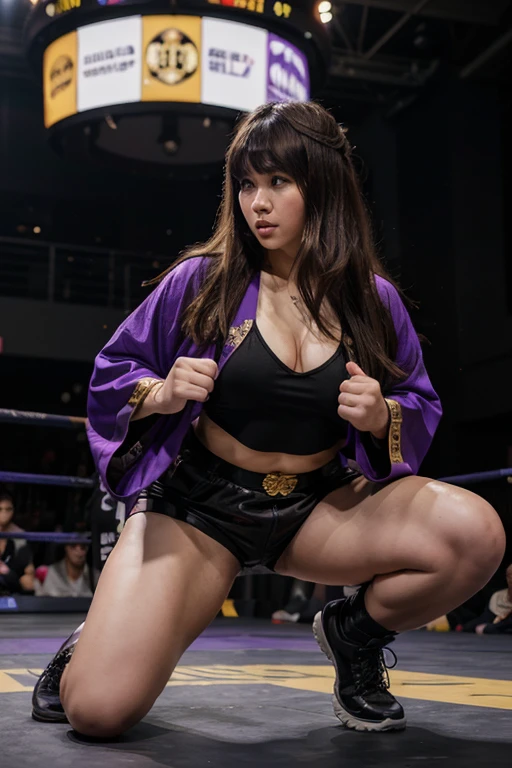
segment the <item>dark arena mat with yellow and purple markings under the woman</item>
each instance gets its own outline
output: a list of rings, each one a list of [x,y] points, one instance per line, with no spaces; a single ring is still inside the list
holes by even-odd
[[[0,616],[2,768],[450,768],[512,765],[512,638],[410,632],[393,645],[400,733],[347,731],[333,671],[306,625],[218,619],[189,649],[142,723],[91,743],[37,723],[39,672],[77,614]]]

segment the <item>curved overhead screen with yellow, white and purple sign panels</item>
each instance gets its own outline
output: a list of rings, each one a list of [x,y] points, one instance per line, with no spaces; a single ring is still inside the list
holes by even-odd
[[[65,9],[79,2],[54,4]],[[237,2],[242,0],[232,0]],[[263,0],[247,2],[256,8]],[[262,26],[207,16],[133,15],[78,26],[50,43],[43,87],[50,127],[118,104],[186,102],[250,111],[267,101],[304,101],[310,77],[304,52]]]

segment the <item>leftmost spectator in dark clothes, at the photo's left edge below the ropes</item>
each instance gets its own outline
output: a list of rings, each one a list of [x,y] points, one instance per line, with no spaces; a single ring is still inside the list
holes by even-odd
[[[10,493],[0,493],[0,532],[23,531],[12,522],[14,499]],[[0,539],[0,594],[33,592],[34,564],[32,552],[25,539]]]

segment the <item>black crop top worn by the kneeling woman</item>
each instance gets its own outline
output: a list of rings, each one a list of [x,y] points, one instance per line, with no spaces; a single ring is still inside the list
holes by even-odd
[[[224,365],[204,411],[255,451],[307,455],[346,437],[339,387],[349,375],[343,344],[323,365],[296,373],[270,349],[254,321]]]

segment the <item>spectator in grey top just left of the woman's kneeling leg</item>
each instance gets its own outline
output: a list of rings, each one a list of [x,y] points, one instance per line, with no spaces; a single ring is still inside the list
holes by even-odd
[[[64,558],[48,567],[44,583],[36,585],[36,594],[43,597],[92,597],[88,544],[66,544]]]

